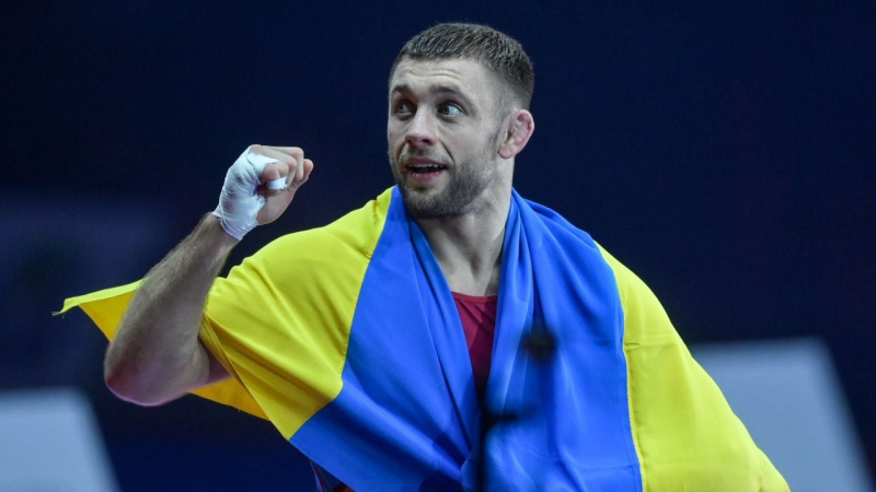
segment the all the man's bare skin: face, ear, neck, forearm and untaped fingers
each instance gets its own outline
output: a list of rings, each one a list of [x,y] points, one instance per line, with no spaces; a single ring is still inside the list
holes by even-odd
[[[499,104],[499,87],[495,75],[466,59],[403,60],[390,83],[393,175],[451,290],[470,295],[498,291],[515,156],[534,129],[528,110]],[[260,179],[266,204],[256,220],[266,224],[286,211],[313,162],[299,148],[252,150],[279,161]],[[410,169],[416,159],[447,168],[417,180]],[[280,177],[286,190],[266,188]],[[161,405],[229,377],[198,340],[198,327],[210,286],[237,244],[208,213],[146,276],[104,360],[106,384],[119,398]]]

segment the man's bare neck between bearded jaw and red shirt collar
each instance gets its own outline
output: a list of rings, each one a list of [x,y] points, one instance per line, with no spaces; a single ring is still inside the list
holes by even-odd
[[[450,290],[468,295],[498,293],[505,223],[511,189],[452,218],[417,219]]]

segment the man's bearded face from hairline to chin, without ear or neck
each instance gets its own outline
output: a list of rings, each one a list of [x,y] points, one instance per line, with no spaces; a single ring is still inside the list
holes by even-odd
[[[416,218],[477,210],[498,183],[495,75],[466,59],[401,61],[390,81],[390,165]]]

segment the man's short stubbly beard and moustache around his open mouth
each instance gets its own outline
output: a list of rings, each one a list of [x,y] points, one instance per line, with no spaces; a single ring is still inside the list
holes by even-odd
[[[496,152],[498,152],[499,134],[497,132],[480,152],[466,160],[454,163],[451,167],[447,167],[443,172],[447,173],[448,183],[443,189],[437,191],[429,188],[422,189],[416,186],[410,186],[404,175],[402,175],[401,165],[402,162],[410,157],[435,159],[435,156],[422,153],[403,153],[396,160],[392,154],[392,149],[390,149],[392,176],[395,178],[395,184],[399,185],[399,190],[402,192],[407,211],[417,219],[446,219],[471,212],[477,204],[477,198],[495,181],[494,176],[498,171],[498,164],[495,160]]]

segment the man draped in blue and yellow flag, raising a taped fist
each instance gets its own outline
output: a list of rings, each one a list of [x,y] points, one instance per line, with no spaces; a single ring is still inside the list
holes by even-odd
[[[396,186],[216,279],[313,171],[301,149],[249,148],[141,283],[65,306],[115,337],[107,385],[268,418],[354,490],[474,490],[481,467],[491,490],[787,490],[647,288],[512,191],[532,87],[502,33],[415,36],[390,77]],[[528,350],[533,333],[555,348]],[[484,441],[485,410],[516,420]]]

